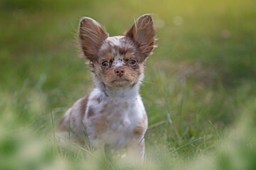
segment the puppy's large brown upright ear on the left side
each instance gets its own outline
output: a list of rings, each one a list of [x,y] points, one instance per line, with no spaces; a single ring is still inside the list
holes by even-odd
[[[80,21],[79,39],[85,57],[94,62],[102,42],[108,37],[97,21],[83,17]]]

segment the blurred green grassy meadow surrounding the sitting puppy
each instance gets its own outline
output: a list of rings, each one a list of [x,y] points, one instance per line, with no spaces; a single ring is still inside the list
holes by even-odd
[[[94,86],[78,58],[78,23],[89,16],[122,35],[144,13],[154,14],[159,38],[141,88],[150,169],[256,169],[255,8],[254,0],[1,0],[1,169],[96,167],[79,153],[62,157],[50,140],[50,113],[57,123]]]

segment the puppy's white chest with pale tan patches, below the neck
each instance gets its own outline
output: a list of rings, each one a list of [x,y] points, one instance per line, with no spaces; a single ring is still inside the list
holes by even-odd
[[[134,128],[139,125],[145,113],[140,97],[133,101],[111,98],[88,107],[93,112],[86,123],[92,145],[108,145],[116,149],[129,143],[134,136]]]

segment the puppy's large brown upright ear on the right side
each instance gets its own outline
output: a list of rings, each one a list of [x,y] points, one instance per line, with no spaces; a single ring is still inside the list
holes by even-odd
[[[156,47],[156,30],[153,19],[149,14],[140,16],[124,35],[131,38],[137,44],[139,51],[142,52],[145,58],[151,55],[152,50]]]

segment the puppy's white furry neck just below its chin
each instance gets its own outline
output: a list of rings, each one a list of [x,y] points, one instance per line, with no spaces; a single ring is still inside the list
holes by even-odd
[[[139,95],[139,87],[142,84],[143,78],[144,74],[141,74],[134,84],[121,88],[113,88],[104,84],[99,77],[93,74],[93,79],[97,89],[105,93],[106,96],[110,96],[112,98],[136,98],[136,96]]]

